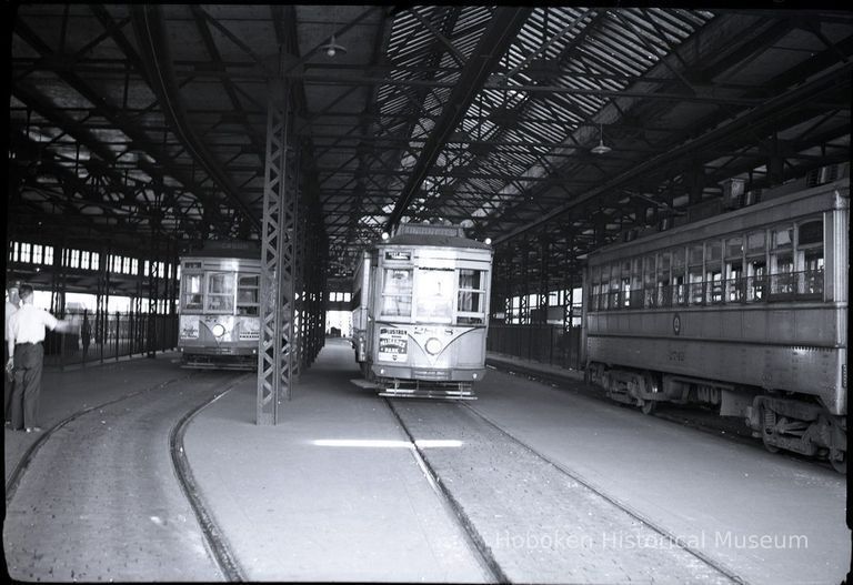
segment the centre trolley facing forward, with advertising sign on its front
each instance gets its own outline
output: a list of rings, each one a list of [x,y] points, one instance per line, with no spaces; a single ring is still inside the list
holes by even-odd
[[[455,225],[407,223],[363,253],[353,346],[384,396],[474,397],[485,375],[492,249]]]

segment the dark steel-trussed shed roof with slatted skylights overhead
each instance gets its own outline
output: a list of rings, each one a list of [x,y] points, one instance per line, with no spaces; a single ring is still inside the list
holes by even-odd
[[[553,278],[631,230],[850,160],[846,10],[7,10],[14,241],[145,258],[258,238],[282,80],[299,199],[341,280],[423,220],[470,220],[503,262]]]

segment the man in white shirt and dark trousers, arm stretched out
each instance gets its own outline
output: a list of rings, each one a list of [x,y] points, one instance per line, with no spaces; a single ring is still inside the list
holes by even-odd
[[[60,333],[78,329],[71,321],[60,321],[33,302],[32,286],[21,284],[21,306],[9,317],[7,326],[7,370],[14,373],[12,389],[12,428],[28,433],[41,431],[38,426],[39,394],[41,394],[41,369],[44,360],[44,327]]]

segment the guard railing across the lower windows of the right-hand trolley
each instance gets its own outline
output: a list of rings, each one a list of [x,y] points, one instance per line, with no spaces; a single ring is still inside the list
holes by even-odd
[[[626,294],[628,293],[628,294]],[[701,281],[592,295],[590,311],[665,309],[774,301],[820,301],[823,271],[787,272],[769,276]]]

